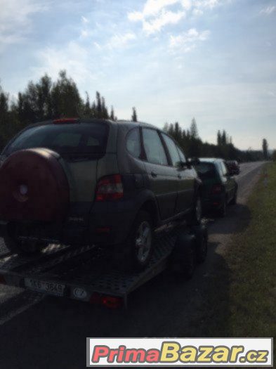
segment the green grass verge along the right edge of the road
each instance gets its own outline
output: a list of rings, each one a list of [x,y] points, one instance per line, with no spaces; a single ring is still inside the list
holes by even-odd
[[[276,164],[265,167],[247,207],[246,226],[218,257],[204,306],[205,337],[276,336]]]

